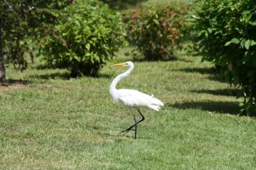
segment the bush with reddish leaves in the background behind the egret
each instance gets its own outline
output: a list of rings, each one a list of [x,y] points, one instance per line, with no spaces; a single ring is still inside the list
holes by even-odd
[[[186,34],[189,8],[182,3],[152,5],[124,13],[132,45],[146,60],[173,59],[174,51]]]

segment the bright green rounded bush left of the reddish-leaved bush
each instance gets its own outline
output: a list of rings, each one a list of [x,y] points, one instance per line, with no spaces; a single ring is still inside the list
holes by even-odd
[[[121,15],[96,1],[76,1],[64,13],[43,43],[43,59],[72,76],[95,76],[125,43]]]

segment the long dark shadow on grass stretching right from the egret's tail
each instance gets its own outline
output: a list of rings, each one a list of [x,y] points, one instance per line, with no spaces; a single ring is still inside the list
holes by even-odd
[[[227,113],[230,115],[239,115],[238,102],[218,102],[218,101],[198,101],[198,102],[185,102],[185,103],[167,103],[166,106],[186,109],[199,109],[218,113]]]

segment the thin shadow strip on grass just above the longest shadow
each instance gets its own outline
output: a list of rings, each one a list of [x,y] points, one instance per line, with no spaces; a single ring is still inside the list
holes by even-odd
[[[213,94],[216,96],[237,96],[236,89],[216,89],[216,90],[192,90],[191,92]]]

